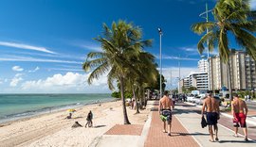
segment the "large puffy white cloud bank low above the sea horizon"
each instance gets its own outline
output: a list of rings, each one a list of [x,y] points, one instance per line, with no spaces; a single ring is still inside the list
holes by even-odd
[[[89,73],[56,73],[46,79],[26,81],[22,84],[23,91],[29,92],[109,92],[107,77],[101,76],[92,85],[87,84]]]

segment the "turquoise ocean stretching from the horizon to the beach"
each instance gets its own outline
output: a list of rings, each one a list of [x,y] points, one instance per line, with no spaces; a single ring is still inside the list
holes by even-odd
[[[111,94],[0,94],[0,122],[113,101]]]

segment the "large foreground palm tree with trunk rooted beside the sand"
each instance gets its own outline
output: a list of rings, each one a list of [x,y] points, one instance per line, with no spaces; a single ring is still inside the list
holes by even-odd
[[[88,84],[107,73],[107,83],[110,90],[114,90],[115,80],[119,81],[123,108],[124,124],[130,124],[124,98],[124,79],[128,71],[137,73],[133,68],[131,58],[137,58],[141,48],[150,46],[151,40],[142,41],[141,29],[133,24],[119,21],[113,22],[111,28],[103,24],[102,37],[96,38],[101,43],[101,52],[91,52],[87,55],[82,69],[87,72],[93,69],[88,77]]]

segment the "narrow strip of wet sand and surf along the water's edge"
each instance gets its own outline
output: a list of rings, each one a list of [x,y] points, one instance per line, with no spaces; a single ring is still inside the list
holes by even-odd
[[[107,99],[109,99],[109,100],[107,100]],[[40,108],[40,109],[28,110],[28,111],[25,111],[25,112],[11,114],[14,117],[9,117],[7,119],[0,119],[0,128],[9,124],[9,123],[11,123],[11,122],[29,120],[30,118],[40,117],[40,116],[46,115],[46,114],[61,112],[61,111],[64,111],[66,109],[69,109],[69,108],[80,108],[82,106],[90,106],[90,105],[95,105],[95,104],[103,104],[103,103],[108,103],[108,102],[114,102],[114,101],[117,101],[118,99],[105,98],[105,99],[102,99],[102,100],[95,100],[95,101],[88,102],[88,103],[83,103],[83,104],[73,103],[73,104],[68,104],[68,105],[63,105],[63,106],[44,107],[44,108]],[[30,113],[30,112],[31,112],[31,114],[23,115],[23,114]],[[20,117],[17,116],[16,117],[16,115],[23,115],[23,116],[20,116]]]

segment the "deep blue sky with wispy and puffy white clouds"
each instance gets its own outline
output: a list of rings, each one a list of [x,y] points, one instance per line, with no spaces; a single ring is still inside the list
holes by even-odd
[[[174,89],[178,62],[181,77],[198,71],[200,36],[191,25],[205,21],[199,14],[206,3],[213,8],[216,0],[1,0],[0,93],[111,92],[105,75],[87,84],[90,72],[82,71],[82,62],[89,52],[101,51],[93,38],[102,24],[119,20],[133,22],[144,40],[153,40],[145,51],[156,63],[161,27],[163,75],[167,89]]]

